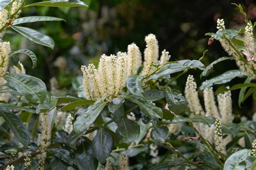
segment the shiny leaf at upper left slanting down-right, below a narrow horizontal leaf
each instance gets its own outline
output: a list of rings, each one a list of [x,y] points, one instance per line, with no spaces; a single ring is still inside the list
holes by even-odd
[[[45,36],[44,34],[36,30],[23,26],[11,26],[11,28],[22,34],[22,36],[28,38],[29,40],[36,42],[37,44],[41,44],[52,49],[55,45],[51,37]]]

